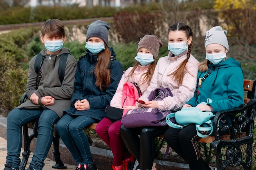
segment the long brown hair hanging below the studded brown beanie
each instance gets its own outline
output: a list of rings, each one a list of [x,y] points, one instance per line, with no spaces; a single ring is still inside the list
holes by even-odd
[[[136,64],[135,64],[135,66],[132,68],[132,70],[130,71],[130,73],[128,74],[128,77],[130,76],[130,77],[133,77],[133,74],[134,74],[134,71],[136,70],[136,68],[139,66],[139,62],[137,62]],[[146,72],[146,73],[143,73],[142,74],[142,76],[143,75],[145,75],[144,76],[144,78],[143,78],[143,80],[142,80],[142,84],[150,84],[150,81],[151,81],[151,79],[152,79],[152,77],[153,77],[153,73],[154,73],[154,71],[155,71],[155,66],[156,66],[156,61],[154,61],[154,62],[152,62],[151,64],[150,64],[150,66],[149,66],[149,68],[148,68],[148,71]]]

